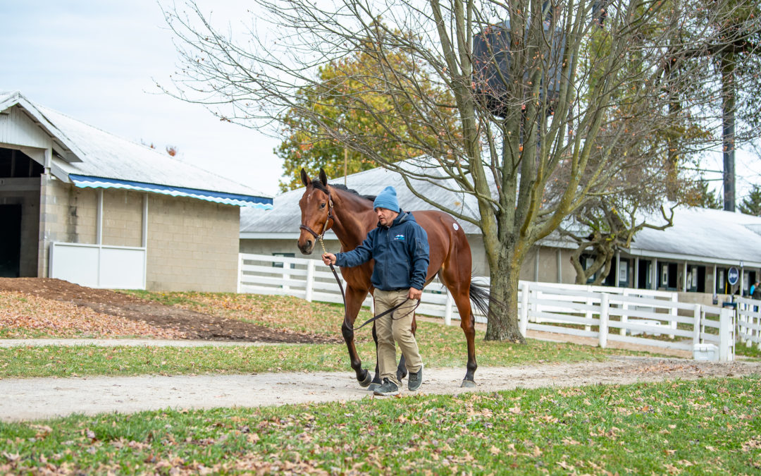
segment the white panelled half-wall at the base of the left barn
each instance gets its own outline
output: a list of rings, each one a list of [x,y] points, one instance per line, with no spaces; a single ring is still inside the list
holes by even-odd
[[[53,241],[48,276],[91,288],[145,289],[145,259],[145,248]]]

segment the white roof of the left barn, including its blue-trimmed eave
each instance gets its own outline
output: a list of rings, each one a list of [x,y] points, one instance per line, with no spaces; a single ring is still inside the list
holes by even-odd
[[[0,92],[0,111],[12,107],[22,108],[50,136],[56,152],[51,171],[76,187],[142,190],[272,208],[272,196],[266,193],[41,107],[18,91]]]

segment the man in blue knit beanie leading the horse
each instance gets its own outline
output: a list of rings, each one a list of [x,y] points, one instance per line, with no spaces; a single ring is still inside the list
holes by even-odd
[[[422,359],[418,343],[412,335],[415,314],[415,303],[412,301],[421,298],[425,286],[429,260],[428,235],[412,213],[401,211],[393,187],[386,187],[380,192],[373,207],[378,219],[377,228],[368,233],[365,241],[346,253],[323,254],[323,261],[339,267],[356,267],[375,260],[371,283],[375,288],[376,315],[396,305],[400,308],[375,321],[381,383],[374,389],[374,394],[398,395],[402,384],[396,379],[395,343],[399,344],[406,359],[409,390],[416,391],[422,383]]]

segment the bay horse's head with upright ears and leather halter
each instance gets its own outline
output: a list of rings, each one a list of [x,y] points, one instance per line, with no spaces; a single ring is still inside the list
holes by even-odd
[[[311,180],[307,171],[301,169],[301,182],[304,183],[304,195],[298,201],[301,208],[301,235],[298,237],[298,249],[302,254],[311,254],[315,241],[332,225],[333,203],[328,190],[328,177],[320,168],[320,180]]]

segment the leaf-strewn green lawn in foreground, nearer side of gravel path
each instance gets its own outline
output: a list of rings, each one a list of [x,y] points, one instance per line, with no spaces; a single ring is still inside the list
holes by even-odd
[[[761,379],[0,423],[0,471],[759,474]]]

